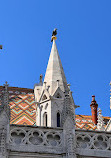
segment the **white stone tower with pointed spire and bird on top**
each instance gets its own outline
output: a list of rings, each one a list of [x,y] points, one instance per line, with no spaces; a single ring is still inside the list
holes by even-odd
[[[62,63],[56,46],[56,30],[52,34],[52,49],[45,73],[44,82],[35,85],[37,126],[63,126],[65,97],[70,93]],[[71,104],[74,104],[70,93]],[[74,117],[74,116],[73,116]]]

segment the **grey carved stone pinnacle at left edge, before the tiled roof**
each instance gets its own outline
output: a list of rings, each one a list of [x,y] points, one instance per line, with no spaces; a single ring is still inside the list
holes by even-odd
[[[10,107],[8,84],[4,84],[4,91],[2,95],[2,105],[0,107],[0,158],[8,158],[9,145],[9,128],[10,128]]]

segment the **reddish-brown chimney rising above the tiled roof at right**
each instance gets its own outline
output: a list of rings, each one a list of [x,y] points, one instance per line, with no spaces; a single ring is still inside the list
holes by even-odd
[[[94,122],[95,125],[97,125],[97,108],[98,104],[95,101],[95,96],[92,95],[92,101],[91,101],[91,112],[92,112],[92,121]]]

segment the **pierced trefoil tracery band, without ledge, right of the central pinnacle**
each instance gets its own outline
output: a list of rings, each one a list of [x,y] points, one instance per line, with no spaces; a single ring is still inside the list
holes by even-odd
[[[111,135],[101,133],[76,133],[76,147],[79,149],[111,150]]]

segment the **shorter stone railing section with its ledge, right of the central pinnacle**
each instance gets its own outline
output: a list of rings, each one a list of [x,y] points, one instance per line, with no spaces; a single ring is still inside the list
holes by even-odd
[[[111,133],[76,130],[76,149],[80,155],[111,157]]]

